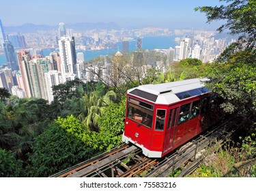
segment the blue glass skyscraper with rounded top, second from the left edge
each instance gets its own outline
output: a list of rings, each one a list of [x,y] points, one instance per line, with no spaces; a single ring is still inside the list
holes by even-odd
[[[12,46],[12,43],[8,40],[5,40],[3,43],[3,48],[5,50],[5,57],[7,59],[8,67],[13,71],[18,70],[18,63],[16,61],[14,46]]]

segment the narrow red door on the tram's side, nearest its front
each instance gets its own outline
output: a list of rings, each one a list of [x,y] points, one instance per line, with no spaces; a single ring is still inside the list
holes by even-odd
[[[178,108],[172,108],[169,110],[169,117],[167,121],[167,129],[165,131],[165,145],[164,145],[164,151],[167,151],[173,147],[173,140],[174,140],[174,134],[175,134],[175,128],[176,128],[176,119],[177,119],[177,109]]]

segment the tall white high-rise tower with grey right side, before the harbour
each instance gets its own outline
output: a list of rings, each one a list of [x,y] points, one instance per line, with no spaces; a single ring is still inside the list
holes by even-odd
[[[61,37],[59,40],[59,54],[61,56],[61,74],[76,74],[76,48],[74,37]]]

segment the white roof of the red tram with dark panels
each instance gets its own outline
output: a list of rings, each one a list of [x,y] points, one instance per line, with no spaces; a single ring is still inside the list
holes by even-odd
[[[209,92],[208,89],[204,88],[205,80],[207,79],[194,78],[157,85],[140,85],[139,87],[129,89],[128,93],[137,95],[144,100],[150,100],[156,104],[173,104],[185,98]]]

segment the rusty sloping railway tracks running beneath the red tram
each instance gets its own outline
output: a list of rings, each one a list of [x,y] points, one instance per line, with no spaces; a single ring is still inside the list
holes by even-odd
[[[177,168],[182,168],[178,176],[184,177],[203,160],[206,147],[216,140],[227,141],[238,124],[236,117],[229,117],[164,158],[147,158],[141,149],[123,144],[51,177],[168,177]]]

